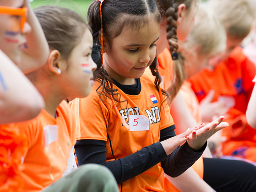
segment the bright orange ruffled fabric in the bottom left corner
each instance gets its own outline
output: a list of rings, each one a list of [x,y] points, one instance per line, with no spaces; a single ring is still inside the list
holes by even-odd
[[[19,192],[24,182],[18,177],[23,169],[22,160],[28,140],[16,123],[0,126],[0,191]],[[13,182],[15,180],[16,182]],[[9,188],[12,182],[13,188]]]

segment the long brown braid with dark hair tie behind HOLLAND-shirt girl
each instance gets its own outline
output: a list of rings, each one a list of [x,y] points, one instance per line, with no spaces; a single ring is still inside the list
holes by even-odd
[[[178,90],[180,89],[181,85],[185,80],[185,69],[184,66],[180,64],[178,60],[178,38],[177,38],[177,10],[178,4],[173,1],[172,6],[170,6],[166,10],[166,17],[167,17],[167,39],[170,44],[169,50],[172,54],[173,60],[173,79],[171,82],[171,86],[167,90],[168,94],[170,95],[170,102],[174,99],[177,95]]]

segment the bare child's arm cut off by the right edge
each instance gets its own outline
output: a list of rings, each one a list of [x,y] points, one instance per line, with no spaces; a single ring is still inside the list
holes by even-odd
[[[256,129],[255,109],[256,109],[256,85],[254,85],[254,89],[252,90],[250,101],[248,103],[248,107],[247,107],[247,110],[246,110],[247,122],[254,129]]]

